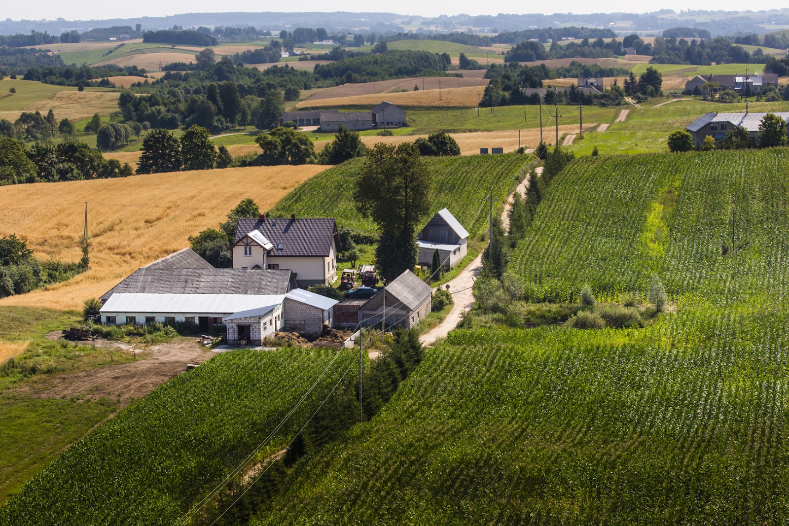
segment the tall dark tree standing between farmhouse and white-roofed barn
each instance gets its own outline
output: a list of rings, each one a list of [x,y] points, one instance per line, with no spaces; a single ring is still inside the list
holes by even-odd
[[[384,281],[417,263],[417,228],[430,211],[428,166],[413,143],[379,143],[368,152],[353,199],[381,231],[376,257]]]

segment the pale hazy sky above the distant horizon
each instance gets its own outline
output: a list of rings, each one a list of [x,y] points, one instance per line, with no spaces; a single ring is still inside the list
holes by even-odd
[[[222,9],[222,3],[215,0],[191,0],[191,2],[168,2],[156,0],[136,0],[136,2],[106,2],[105,0],[84,0],[82,2],[63,2],[62,0],[37,0],[36,2],[4,2],[2,17],[11,20],[55,20],[58,17],[66,20],[98,20],[105,18],[132,18],[132,17],[163,17],[179,13],[216,13]],[[785,2],[778,0],[765,0],[759,2],[758,9],[779,9]],[[447,2],[427,2],[422,0],[399,0],[396,4],[382,4],[368,0],[345,0],[337,4],[325,0],[301,0],[298,5],[289,3],[271,4],[265,8],[260,4],[234,4],[233,11],[279,10],[287,12],[298,11],[353,11],[353,12],[380,12],[393,9],[396,13],[419,14],[426,17],[436,17],[441,14],[496,14],[496,13],[611,13],[622,12],[644,13],[656,9],[689,9],[687,2],[661,2],[655,5],[649,2],[625,3],[621,0],[599,0],[595,3],[581,2],[581,0],[565,0],[561,4],[552,2],[525,3],[514,0],[499,0],[495,7],[486,5],[478,0],[455,0]],[[708,2],[697,2],[697,9],[743,9],[741,1],[718,0],[714,5]]]

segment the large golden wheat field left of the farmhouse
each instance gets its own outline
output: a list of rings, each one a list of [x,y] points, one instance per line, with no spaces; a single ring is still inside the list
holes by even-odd
[[[88,202],[91,268],[68,282],[0,305],[79,309],[141,265],[189,246],[187,238],[216,227],[246,197],[261,211],[327,166],[256,166],[137,175],[119,179],[0,187],[0,236],[16,233],[37,257],[80,259]]]

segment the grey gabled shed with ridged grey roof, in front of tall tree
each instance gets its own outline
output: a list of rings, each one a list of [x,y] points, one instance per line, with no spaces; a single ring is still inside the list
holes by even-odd
[[[432,289],[417,274],[406,270],[359,308],[359,321],[365,326],[380,325],[409,329],[427,318],[432,307]]]

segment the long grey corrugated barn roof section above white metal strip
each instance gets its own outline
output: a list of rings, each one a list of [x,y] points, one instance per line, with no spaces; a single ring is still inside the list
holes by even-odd
[[[155,294],[285,294],[294,288],[290,270],[243,268],[140,268],[107,291]]]

